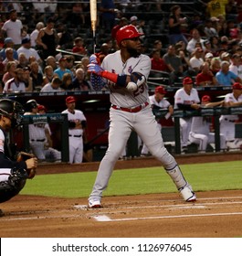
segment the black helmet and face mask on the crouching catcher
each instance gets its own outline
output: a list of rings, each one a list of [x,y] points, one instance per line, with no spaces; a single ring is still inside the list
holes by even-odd
[[[24,109],[19,102],[9,99],[0,100],[0,115],[11,119],[11,125],[13,128],[21,123],[22,114],[24,114]]]

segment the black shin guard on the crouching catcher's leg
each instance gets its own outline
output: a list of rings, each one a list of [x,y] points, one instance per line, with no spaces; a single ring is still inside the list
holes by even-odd
[[[26,185],[27,173],[25,169],[13,168],[8,180],[0,182],[0,203],[15,197]]]

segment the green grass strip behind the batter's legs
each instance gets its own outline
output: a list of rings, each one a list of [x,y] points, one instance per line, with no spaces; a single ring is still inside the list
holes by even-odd
[[[241,161],[181,165],[185,178],[195,191],[242,189]],[[28,180],[22,195],[47,197],[88,197],[96,172],[37,175]],[[104,196],[175,192],[163,167],[116,170]]]

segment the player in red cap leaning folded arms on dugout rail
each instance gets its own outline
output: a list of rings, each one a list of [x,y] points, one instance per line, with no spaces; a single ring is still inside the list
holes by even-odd
[[[183,88],[174,93],[174,109],[191,111],[200,108],[200,105],[198,104],[200,102],[198,92],[193,88],[193,84],[194,82],[191,78],[184,78]],[[191,124],[191,117],[180,118],[182,152],[185,152],[187,150],[187,145],[190,144],[189,133],[191,131]]]

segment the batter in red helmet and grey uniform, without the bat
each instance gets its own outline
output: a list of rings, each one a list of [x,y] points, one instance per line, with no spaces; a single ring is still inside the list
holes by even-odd
[[[89,58],[88,71],[94,79],[107,80],[111,102],[109,147],[100,162],[98,175],[89,195],[89,208],[101,207],[102,192],[108,186],[113,167],[132,130],[141,137],[153,156],[161,161],[184,200],[196,199],[174,157],[165,149],[161,131],[152,112],[146,83],[151,70],[151,59],[141,54],[142,35],[132,25],[121,27],[116,34],[120,50],[106,56],[101,67],[95,55]]]

